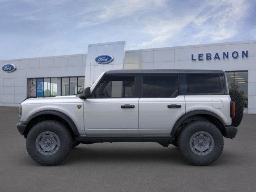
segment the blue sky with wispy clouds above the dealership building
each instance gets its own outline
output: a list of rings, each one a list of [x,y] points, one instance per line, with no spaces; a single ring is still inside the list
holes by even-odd
[[[256,40],[255,0],[0,0],[0,60]]]

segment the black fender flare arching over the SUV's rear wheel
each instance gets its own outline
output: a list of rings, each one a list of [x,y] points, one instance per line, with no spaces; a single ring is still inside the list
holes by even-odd
[[[188,113],[183,114],[174,124],[173,128],[172,128],[172,132],[171,135],[176,135],[176,133],[179,131],[179,127],[181,125],[181,123],[186,120],[187,118],[190,118],[191,116],[194,115],[210,115],[213,116],[215,118],[217,118],[222,125],[224,126],[224,121],[222,120],[222,118],[220,118],[220,116],[218,116],[217,114],[215,114],[214,112],[211,111],[207,111],[207,110],[194,110],[194,111],[190,111]]]

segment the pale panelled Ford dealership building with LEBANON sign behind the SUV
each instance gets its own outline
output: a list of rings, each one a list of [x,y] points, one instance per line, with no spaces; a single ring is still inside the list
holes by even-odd
[[[224,70],[228,86],[256,114],[256,40],[125,50],[126,42],[90,44],[87,54],[0,61],[0,106],[26,97],[74,95],[112,69]]]

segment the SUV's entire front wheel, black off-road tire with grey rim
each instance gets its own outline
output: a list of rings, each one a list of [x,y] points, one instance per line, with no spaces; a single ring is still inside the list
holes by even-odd
[[[64,160],[72,144],[72,135],[68,128],[55,120],[46,120],[34,125],[26,139],[30,157],[46,166],[56,165]]]

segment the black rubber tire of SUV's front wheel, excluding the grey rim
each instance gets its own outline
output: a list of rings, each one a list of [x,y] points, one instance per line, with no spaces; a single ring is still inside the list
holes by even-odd
[[[36,139],[43,132],[53,132],[60,140],[58,150],[52,155],[41,154],[36,148]],[[70,153],[72,148],[72,135],[66,126],[55,120],[45,120],[34,125],[28,132],[26,148],[30,157],[44,166],[57,165]]]

